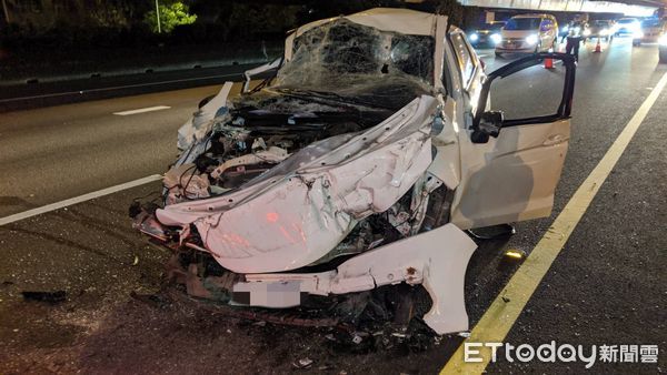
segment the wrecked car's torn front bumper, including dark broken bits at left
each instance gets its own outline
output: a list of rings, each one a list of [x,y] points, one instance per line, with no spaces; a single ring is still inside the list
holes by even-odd
[[[168,234],[155,219],[139,215],[136,226],[159,242]],[[207,252],[193,243],[185,247]],[[465,275],[477,245],[454,224],[447,224],[354,256],[337,268],[316,273],[201,274],[171,265],[169,278],[180,280],[195,297],[231,305],[289,308],[306,295],[329,296],[371,291],[385,285],[421,284],[432,302],[424,322],[437,334],[468,330]],[[178,262],[178,261],[177,261]]]

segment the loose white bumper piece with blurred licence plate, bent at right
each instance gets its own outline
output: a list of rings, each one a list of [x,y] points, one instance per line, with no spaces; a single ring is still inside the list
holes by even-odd
[[[248,293],[248,305],[299,305],[299,294],[346,294],[389,284],[424,284],[431,310],[424,321],[436,333],[468,330],[464,298],[466,267],[477,245],[454,224],[368,251],[317,274],[247,275],[233,291]]]

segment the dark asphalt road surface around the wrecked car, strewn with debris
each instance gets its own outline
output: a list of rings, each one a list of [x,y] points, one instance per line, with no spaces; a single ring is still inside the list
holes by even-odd
[[[619,39],[604,53],[590,49],[583,49],[578,64],[573,135],[555,212],[519,223],[509,241],[480,243],[466,276],[472,326],[516,270],[502,263],[504,250],[531,252],[667,73],[656,45],[631,48]],[[492,51],[480,54],[487,71],[506,63]],[[176,130],[218,89],[0,114],[0,217],[163,172],[176,155]],[[506,99],[516,100],[519,91],[506,92]],[[153,111],[115,114],[147,108]],[[587,351],[657,345],[657,363],[598,358],[591,371],[666,369],[666,118],[661,92],[505,342],[555,341]],[[159,182],[122,189],[0,226],[0,373],[431,374],[464,341],[446,335],[422,348],[356,349],[351,342],[331,344],[326,328],[252,324],[159,293],[131,297],[161,288],[169,254],[149,246],[127,216],[133,197],[159,189]],[[27,302],[24,291],[64,291],[67,301]],[[581,362],[499,357],[489,372],[585,369]],[[297,369],[306,358],[312,364]]]

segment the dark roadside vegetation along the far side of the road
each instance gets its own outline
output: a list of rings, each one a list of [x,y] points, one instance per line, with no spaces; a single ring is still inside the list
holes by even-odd
[[[157,9],[155,0],[4,2],[0,82],[231,61],[250,49],[271,58],[285,33],[299,24],[374,7],[406,6],[399,0],[158,0]],[[421,7],[462,19],[456,0],[432,0]]]

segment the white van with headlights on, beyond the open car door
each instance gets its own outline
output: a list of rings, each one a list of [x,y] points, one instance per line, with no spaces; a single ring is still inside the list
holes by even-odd
[[[548,51],[557,43],[558,21],[551,14],[515,16],[502,28],[501,38],[496,45],[496,57]]]

